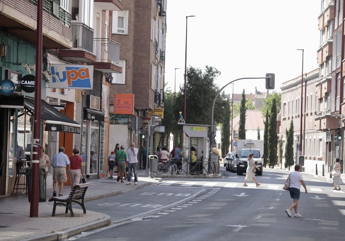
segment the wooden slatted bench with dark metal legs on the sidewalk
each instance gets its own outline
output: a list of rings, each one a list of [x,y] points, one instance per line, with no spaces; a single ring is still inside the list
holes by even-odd
[[[84,184],[79,184],[76,185],[69,195],[61,196],[61,197],[51,197],[49,198],[49,202],[54,201],[54,207],[53,207],[53,213],[51,216],[55,216],[55,210],[57,205],[65,206],[66,207],[66,212],[68,213],[68,210],[71,213],[71,217],[74,216],[73,211],[72,211],[72,202],[78,203],[82,209],[84,214],[86,213],[86,209],[84,206],[84,196],[86,193],[86,190],[89,186],[92,186],[93,184],[91,182],[87,182]],[[81,200],[81,202],[78,202],[77,200]],[[66,204],[64,203],[66,202]]]

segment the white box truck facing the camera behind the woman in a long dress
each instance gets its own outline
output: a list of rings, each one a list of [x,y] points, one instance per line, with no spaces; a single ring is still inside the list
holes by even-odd
[[[237,175],[243,175],[243,172],[246,172],[250,153],[254,154],[255,164],[260,169],[256,171],[256,175],[262,175],[262,167],[264,164],[264,140],[237,140],[235,152]]]

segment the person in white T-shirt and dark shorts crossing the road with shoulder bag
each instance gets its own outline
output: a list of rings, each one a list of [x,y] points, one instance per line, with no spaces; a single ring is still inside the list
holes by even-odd
[[[305,193],[307,193],[307,187],[305,186],[305,182],[303,180],[302,174],[300,174],[301,170],[300,165],[295,165],[295,171],[290,173],[290,186],[289,186],[289,191],[290,191],[290,197],[294,199],[294,202],[292,205],[285,210],[287,216],[291,217],[291,210],[294,208],[295,209],[295,217],[302,217],[298,213],[298,200],[299,200],[299,194],[300,194],[300,188],[301,184],[303,185],[305,189]]]

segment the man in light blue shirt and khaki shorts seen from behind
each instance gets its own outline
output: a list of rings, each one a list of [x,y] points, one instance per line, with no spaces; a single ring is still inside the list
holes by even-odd
[[[62,196],[63,183],[67,181],[66,166],[71,163],[68,156],[65,154],[65,147],[59,148],[59,153],[55,154],[51,160],[51,165],[53,166],[53,197],[56,197],[56,186],[58,180],[60,179],[60,193],[59,197]]]

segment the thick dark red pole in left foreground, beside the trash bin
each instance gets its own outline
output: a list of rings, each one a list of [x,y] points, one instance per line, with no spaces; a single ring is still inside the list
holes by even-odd
[[[37,1],[37,39],[35,71],[35,105],[33,113],[32,177],[30,191],[30,217],[38,217],[39,152],[41,139],[41,82],[42,82],[42,15],[43,0]]]

